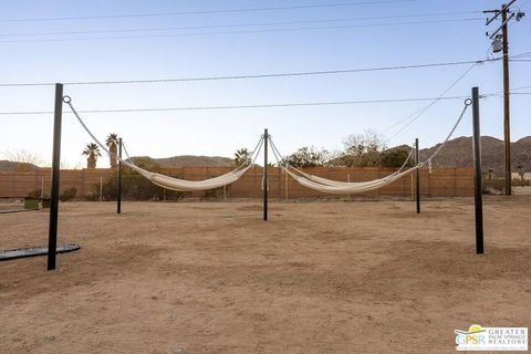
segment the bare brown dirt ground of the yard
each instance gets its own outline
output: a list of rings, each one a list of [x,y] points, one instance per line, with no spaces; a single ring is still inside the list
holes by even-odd
[[[454,353],[455,329],[531,326],[531,196],[66,202],[60,242],[0,262],[0,353]],[[0,249],[46,211],[0,214]]]

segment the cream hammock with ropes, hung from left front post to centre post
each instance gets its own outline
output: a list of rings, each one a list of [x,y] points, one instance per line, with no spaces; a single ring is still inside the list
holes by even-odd
[[[140,174],[142,176],[144,176],[145,178],[147,178],[149,181],[152,181],[153,184],[159,186],[159,187],[163,187],[163,188],[166,188],[166,189],[171,189],[171,190],[177,190],[177,191],[196,191],[196,190],[208,190],[208,189],[215,189],[215,188],[219,188],[219,187],[223,187],[223,186],[227,186],[227,185],[230,185],[235,181],[237,181],[241,176],[243,176],[248,170],[249,168],[253,167],[254,166],[254,160],[258,156],[258,154],[260,153],[260,149],[262,147],[262,144],[263,144],[263,138],[260,138],[260,140],[258,142],[257,146],[254,147],[254,149],[252,150],[251,153],[251,157],[254,156],[253,159],[251,159],[251,164],[249,164],[249,166],[247,167],[239,167],[235,170],[231,170],[225,175],[221,175],[221,176],[218,176],[218,177],[214,177],[214,178],[209,178],[209,179],[205,179],[205,180],[186,180],[186,179],[179,179],[179,178],[175,178],[175,177],[170,177],[170,176],[166,176],[166,175],[162,175],[162,174],[157,174],[157,173],[152,173],[147,169],[144,169],[144,168],[140,168],[138,166],[136,166],[135,164],[128,162],[128,160],[125,160],[123,159],[122,157],[117,156],[116,154],[113,154],[111,153],[95,136],[94,134],[92,134],[92,132],[88,129],[88,127],[85,125],[85,123],[83,122],[83,119],[80,117],[80,115],[77,114],[77,112],[75,111],[75,108],[73,107],[72,105],[72,102],[71,102],[71,98],[69,96],[64,96],[63,97],[63,102],[66,103],[70,108],[72,110],[72,113],[74,113],[75,117],[77,118],[77,121],[81,123],[81,125],[83,126],[83,128],[86,131],[86,133],[88,133],[88,135],[93,138],[93,140],[105,152],[107,153],[110,156],[116,158],[117,160],[119,160],[122,164],[126,165],[127,167],[129,167],[131,169],[137,171],[138,174]]]

